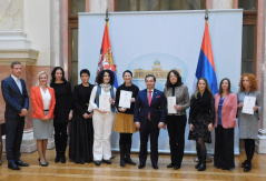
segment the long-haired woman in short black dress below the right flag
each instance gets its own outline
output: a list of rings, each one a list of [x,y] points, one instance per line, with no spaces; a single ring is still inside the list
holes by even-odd
[[[195,165],[198,171],[206,170],[206,145],[211,142],[210,131],[215,121],[215,99],[205,78],[199,78],[196,91],[190,99],[189,111],[189,140],[196,140],[198,163]]]

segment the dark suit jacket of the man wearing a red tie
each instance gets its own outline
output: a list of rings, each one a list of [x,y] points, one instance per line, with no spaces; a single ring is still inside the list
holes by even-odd
[[[147,118],[150,112],[152,127],[158,128],[159,122],[166,120],[166,98],[164,93],[154,89],[151,103],[148,103],[147,89],[139,91],[135,101],[134,122],[140,122],[140,129],[146,128]]]

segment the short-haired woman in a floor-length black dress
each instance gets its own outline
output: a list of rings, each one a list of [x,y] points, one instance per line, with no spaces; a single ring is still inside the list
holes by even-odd
[[[69,159],[83,164],[92,162],[93,125],[92,112],[88,112],[90,93],[93,84],[89,83],[90,72],[88,69],[80,71],[82,83],[73,88],[73,119],[71,121]]]

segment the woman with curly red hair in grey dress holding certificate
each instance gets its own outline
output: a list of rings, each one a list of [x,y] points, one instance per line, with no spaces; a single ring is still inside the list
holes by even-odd
[[[257,79],[254,74],[244,73],[239,82],[238,120],[239,139],[244,139],[247,159],[242,163],[245,172],[252,170],[252,160],[255,151],[255,140],[258,134],[258,120],[260,115],[260,93],[257,91]]]

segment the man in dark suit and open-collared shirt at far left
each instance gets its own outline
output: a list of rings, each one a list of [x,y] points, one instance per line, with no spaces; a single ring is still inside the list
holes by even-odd
[[[8,168],[20,170],[19,167],[28,167],[20,158],[20,145],[24,129],[24,117],[28,113],[29,97],[24,80],[20,79],[22,66],[14,61],[11,63],[11,76],[2,80],[2,95],[6,101],[6,151]]]

